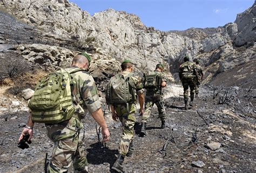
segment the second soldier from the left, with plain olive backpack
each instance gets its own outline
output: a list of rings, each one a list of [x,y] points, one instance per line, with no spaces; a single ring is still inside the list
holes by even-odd
[[[136,95],[139,98],[139,112],[143,114],[143,86],[140,78],[132,73],[133,64],[130,60],[125,60],[121,64],[122,72],[111,77],[106,90],[106,103],[110,105],[112,118],[119,119],[123,125],[122,138],[119,143],[118,158],[114,162],[112,169],[123,172],[123,161],[125,156],[131,156],[134,150],[134,125],[136,117]]]

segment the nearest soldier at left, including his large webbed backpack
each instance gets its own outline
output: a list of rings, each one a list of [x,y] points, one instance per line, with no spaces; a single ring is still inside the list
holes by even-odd
[[[49,85],[40,85],[40,83],[44,80],[47,81],[48,78],[55,80],[56,76],[60,74],[60,72],[57,73],[57,71],[53,75],[49,74],[48,78],[42,78],[41,81],[39,81],[35,95],[30,100],[29,107],[31,114],[28,123],[22,130],[19,141],[22,140],[24,134],[29,134],[30,139],[32,138],[35,122],[45,123],[48,137],[55,143],[48,172],[68,172],[72,162],[74,172],[88,171],[85,144],[83,141],[85,129],[81,122],[81,119],[84,118],[85,110],[89,111],[92,117],[102,127],[104,141],[109,140],[110,133],[103,117],[95,81],[91,74],[86,72],[89,65],[90,56],[82,53],[73,58],[70,68],[62,71],[63,74],[60,76],[69,74],[64,79],[69,78],[72,85],[69,83],[70,81],[62,83],[63,80],[60,80],[59,83],[62,83],[62,85],[60,85],[59,90],[57,90],[60,92],[53,98],[61,95],[62,90],[65,88],[65,91],[67,91],[65,94],[67,95],[60,97],[61,100],[56,100],[56,102],[60,101],[57,107],[53,107],[50,110],[43,109],[38,111],[45,106],[44,103],[49,103],[45,98],[51,99],[50,94],[56,89],[49,93],[49,97],[45,95],[46,91],[54,88],[53,86],[57,86],[58,84],[58,82],[52,81],[48,81]],[[44,92],[44,97],[40,95],[41,91]],[[40,104],[39,107],[33,110],[37,104]]]

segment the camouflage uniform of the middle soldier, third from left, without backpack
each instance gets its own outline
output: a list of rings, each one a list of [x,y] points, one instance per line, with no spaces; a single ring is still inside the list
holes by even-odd
[[[150,74],[157,73],[158,76],[161,78],[161,82],[166,82],[166,78],[164,77],[164,73],[161,73],[157,70],[152,71]],[[156,88],[147,88],[146,89],[146,96],[145,96],[145,111],[142,116],[142,122],[147,122],[151,114],[151,109],[153,105],[157,105],[159,118],[161,121],[165,121],[165,110],[164,110],[164,103],[163,103],[163,93],[160,89]]]

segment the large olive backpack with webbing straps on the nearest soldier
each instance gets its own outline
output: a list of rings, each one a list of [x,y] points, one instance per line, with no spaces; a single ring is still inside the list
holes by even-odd
[[[76,108],[72,102],[71,86],[74,83],[70,74],[80,70],[83,69],[60,69],[41,78],[28,105],[32,121],[58,124],[73,116]]]

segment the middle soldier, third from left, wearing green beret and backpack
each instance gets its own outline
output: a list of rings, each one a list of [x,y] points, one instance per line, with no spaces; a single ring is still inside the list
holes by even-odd
[[[163,102],[162,88],[166,86],[166,79],[164,77],[164,65],[157,64],[156,69],[149,74],[144,75],[143,84],[146,89],[145,96],[145,111],[142,117],[142,128],[140,135],[146,135],[147,119],[150,117],[151,109],[154,104],[157,105],[159,118],[161,120],[161,128],[165,128],[165,110]]]

